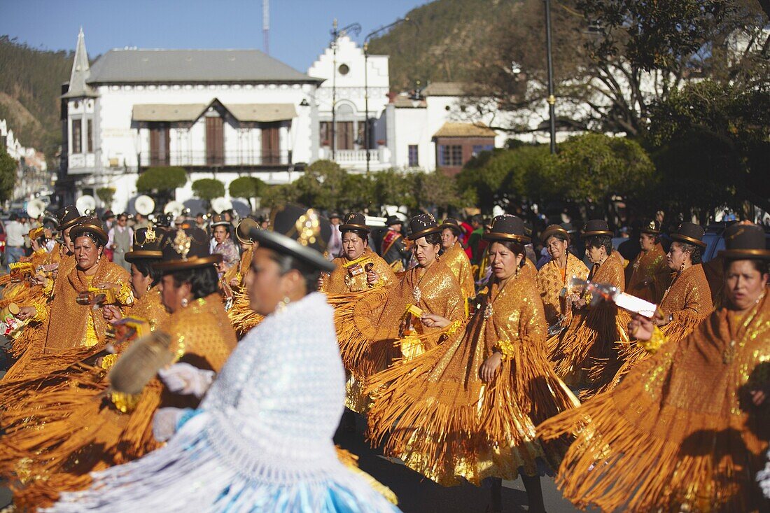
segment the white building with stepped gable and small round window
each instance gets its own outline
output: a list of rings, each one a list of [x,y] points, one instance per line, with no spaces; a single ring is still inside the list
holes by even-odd
[[[320,158],[333,159],[346,169],[366,169],[368,151],[371,170],[392,166],[384,117],[390,92],[388,60],[387,55],[364,55],[342,35],[307,70],[324,80],[316,94]]]

